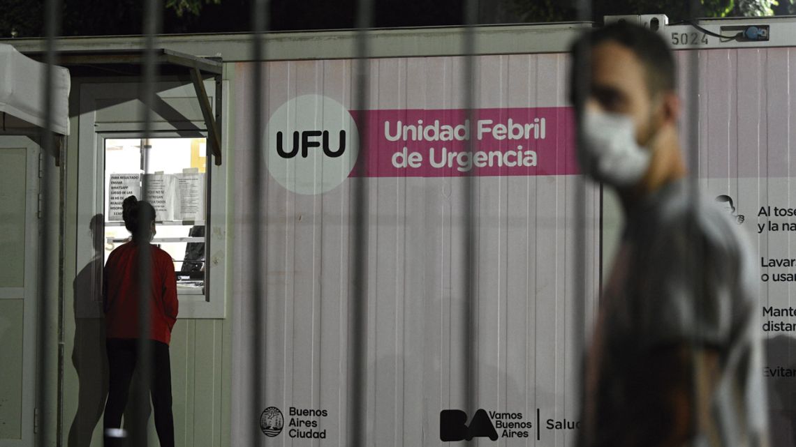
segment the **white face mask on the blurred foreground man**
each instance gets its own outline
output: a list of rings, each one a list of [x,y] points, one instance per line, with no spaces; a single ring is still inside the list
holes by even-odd
[[[596,181],[617,187],[634,185],[650,167],[652,152],[636,142],[629,116],[585,111],[581,132],[578,161]]]

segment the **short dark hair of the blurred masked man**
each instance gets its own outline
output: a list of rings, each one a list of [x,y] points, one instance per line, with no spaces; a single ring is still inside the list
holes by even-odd
[[[654,31],[626,21],[618,21],[603,28],[584,33],[572,44],[572,70],[570,72],[570,95],[572,103],[585,98],[587,85],[579,81],[579,72],[589,66],[591,49],[606,42],[615,42],[629,49],[638,57],[646,71],[646,84],[650,96],[676,87],[675,64],[669,45]],[[578,94],[580,93],[580,95]]]

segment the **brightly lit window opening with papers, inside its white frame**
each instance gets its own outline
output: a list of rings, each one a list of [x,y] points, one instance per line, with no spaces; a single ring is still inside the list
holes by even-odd
[[[104,258],[130,240],[122,203],[127,196],[155,208],[152,243],[174,260],[179,295],[205,294],[207,222],[205,138],[105,138]]]

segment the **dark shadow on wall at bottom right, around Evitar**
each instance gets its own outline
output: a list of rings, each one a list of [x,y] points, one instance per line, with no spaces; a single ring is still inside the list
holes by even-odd
[[[766,340],[765,367],[771,447],[796,445],[796,339],[775,336]]]

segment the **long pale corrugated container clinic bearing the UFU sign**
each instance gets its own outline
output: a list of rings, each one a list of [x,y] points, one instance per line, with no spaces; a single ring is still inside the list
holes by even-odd
[[[738,32],[728,26],[770,26],[768,41],[735,41],[689,24],[667,25],[661,16],[629,18],[649,24],[656,17],[678,50],[690,168],[704,193],[732,198],[735,218],[758,255],[772,438],[775,445],[792,445],[796,362],[790,360],[793,319],[783,309],[789,309],[793,282],[786,260],[793,220],[787,210],[796,208],[790,203],[796,21],[700,21],[727,35]],[[499,445],[571,445],[583,348],[577,336],[588,334],[608,270],[602,266],[610,266],[621,228],[615,199],[595,185],[588,186],[583,208],[576,205],[566,49],[576,30],[588,26],[478,28],[471,60],[464,56],[462,29],[366,32],[371,58],[363,106],[357,106],[363,84],[354,75],[357,33],[277,33],[266,39],[263,62],[251,60],[246,35],[162,38],[167,49],[222,56],[229,83],[224,165],[218,168],[225,177],[217,175],[213,187],[226,200],[214,199],[211,210],[223,223],[211,231],[211,269],[223,269],[214,287],[227,310],[214,320],[178,323],[186,334],[174,348],[185,376],[175,380],[185,383],[186,394],[178,396],[184,404],[175,404],[185,407],[178,426],[186,434],[179,439],[186,445],[350,445],[352,278],[354,262],[361,261],[367,445],[447,444],[443,439],[458,435],[440,433],[440,412],[462,410],[470,422],[478,409],[492,426],[523,423],[508,430],[527,438],[497,428]],[[25,52],[41,44],[14,45]],[[61,49],[136,45],[124,38],[80,38],[64,40]],[[264,75],[262,122],[253,121],[255,64]],[[467,67],[474,69],[471,96]],[[73,84],[77,98],[91,89],[88,84]],[[77,127],[85,117],[72,119]],[[112,124],[103,122],[103,128]],[[79,126],[91,130],[93,124]],[[255,134],[263,138],[263,162],[252,166]],[[75,178],[78,161],[95,150],[90,139],[69,141],[72,234],[84,225],[72,222],[72,212],[93,214],[74,199],[83,188]],[[255,175],[262,179],[259,190],[252,188]],[[365,206],[357,202],[357,188],[367,193]],[[259,215],[252,214],[256,200]],[[367,211],[362,227],[358,210]],[[252,246],[252,231],[259,231],[261,246]],[[356,258],[360,235],[364,258]],[[76,236],[64,239],[68,256],[84,250]],[[254,255],[259,270],[252,268]],[[576,277],[579,268],[582,278]],[[64,282],[70,289],[72,279]],[[257,303],[263,321],[252,321]],[[578,306],[585,328],[576,327]],[[257,361],[264,368],[254,376]],[[69,390],[76,379],[65,366]],[[212,391],[203,391],[203,383],[213,383]],[[255,402],[258,388],[263,396]],[[65,392],[64,418],[72,418],[73,401],[76,396]],[[269,407],[275,408],[265,412]]]

